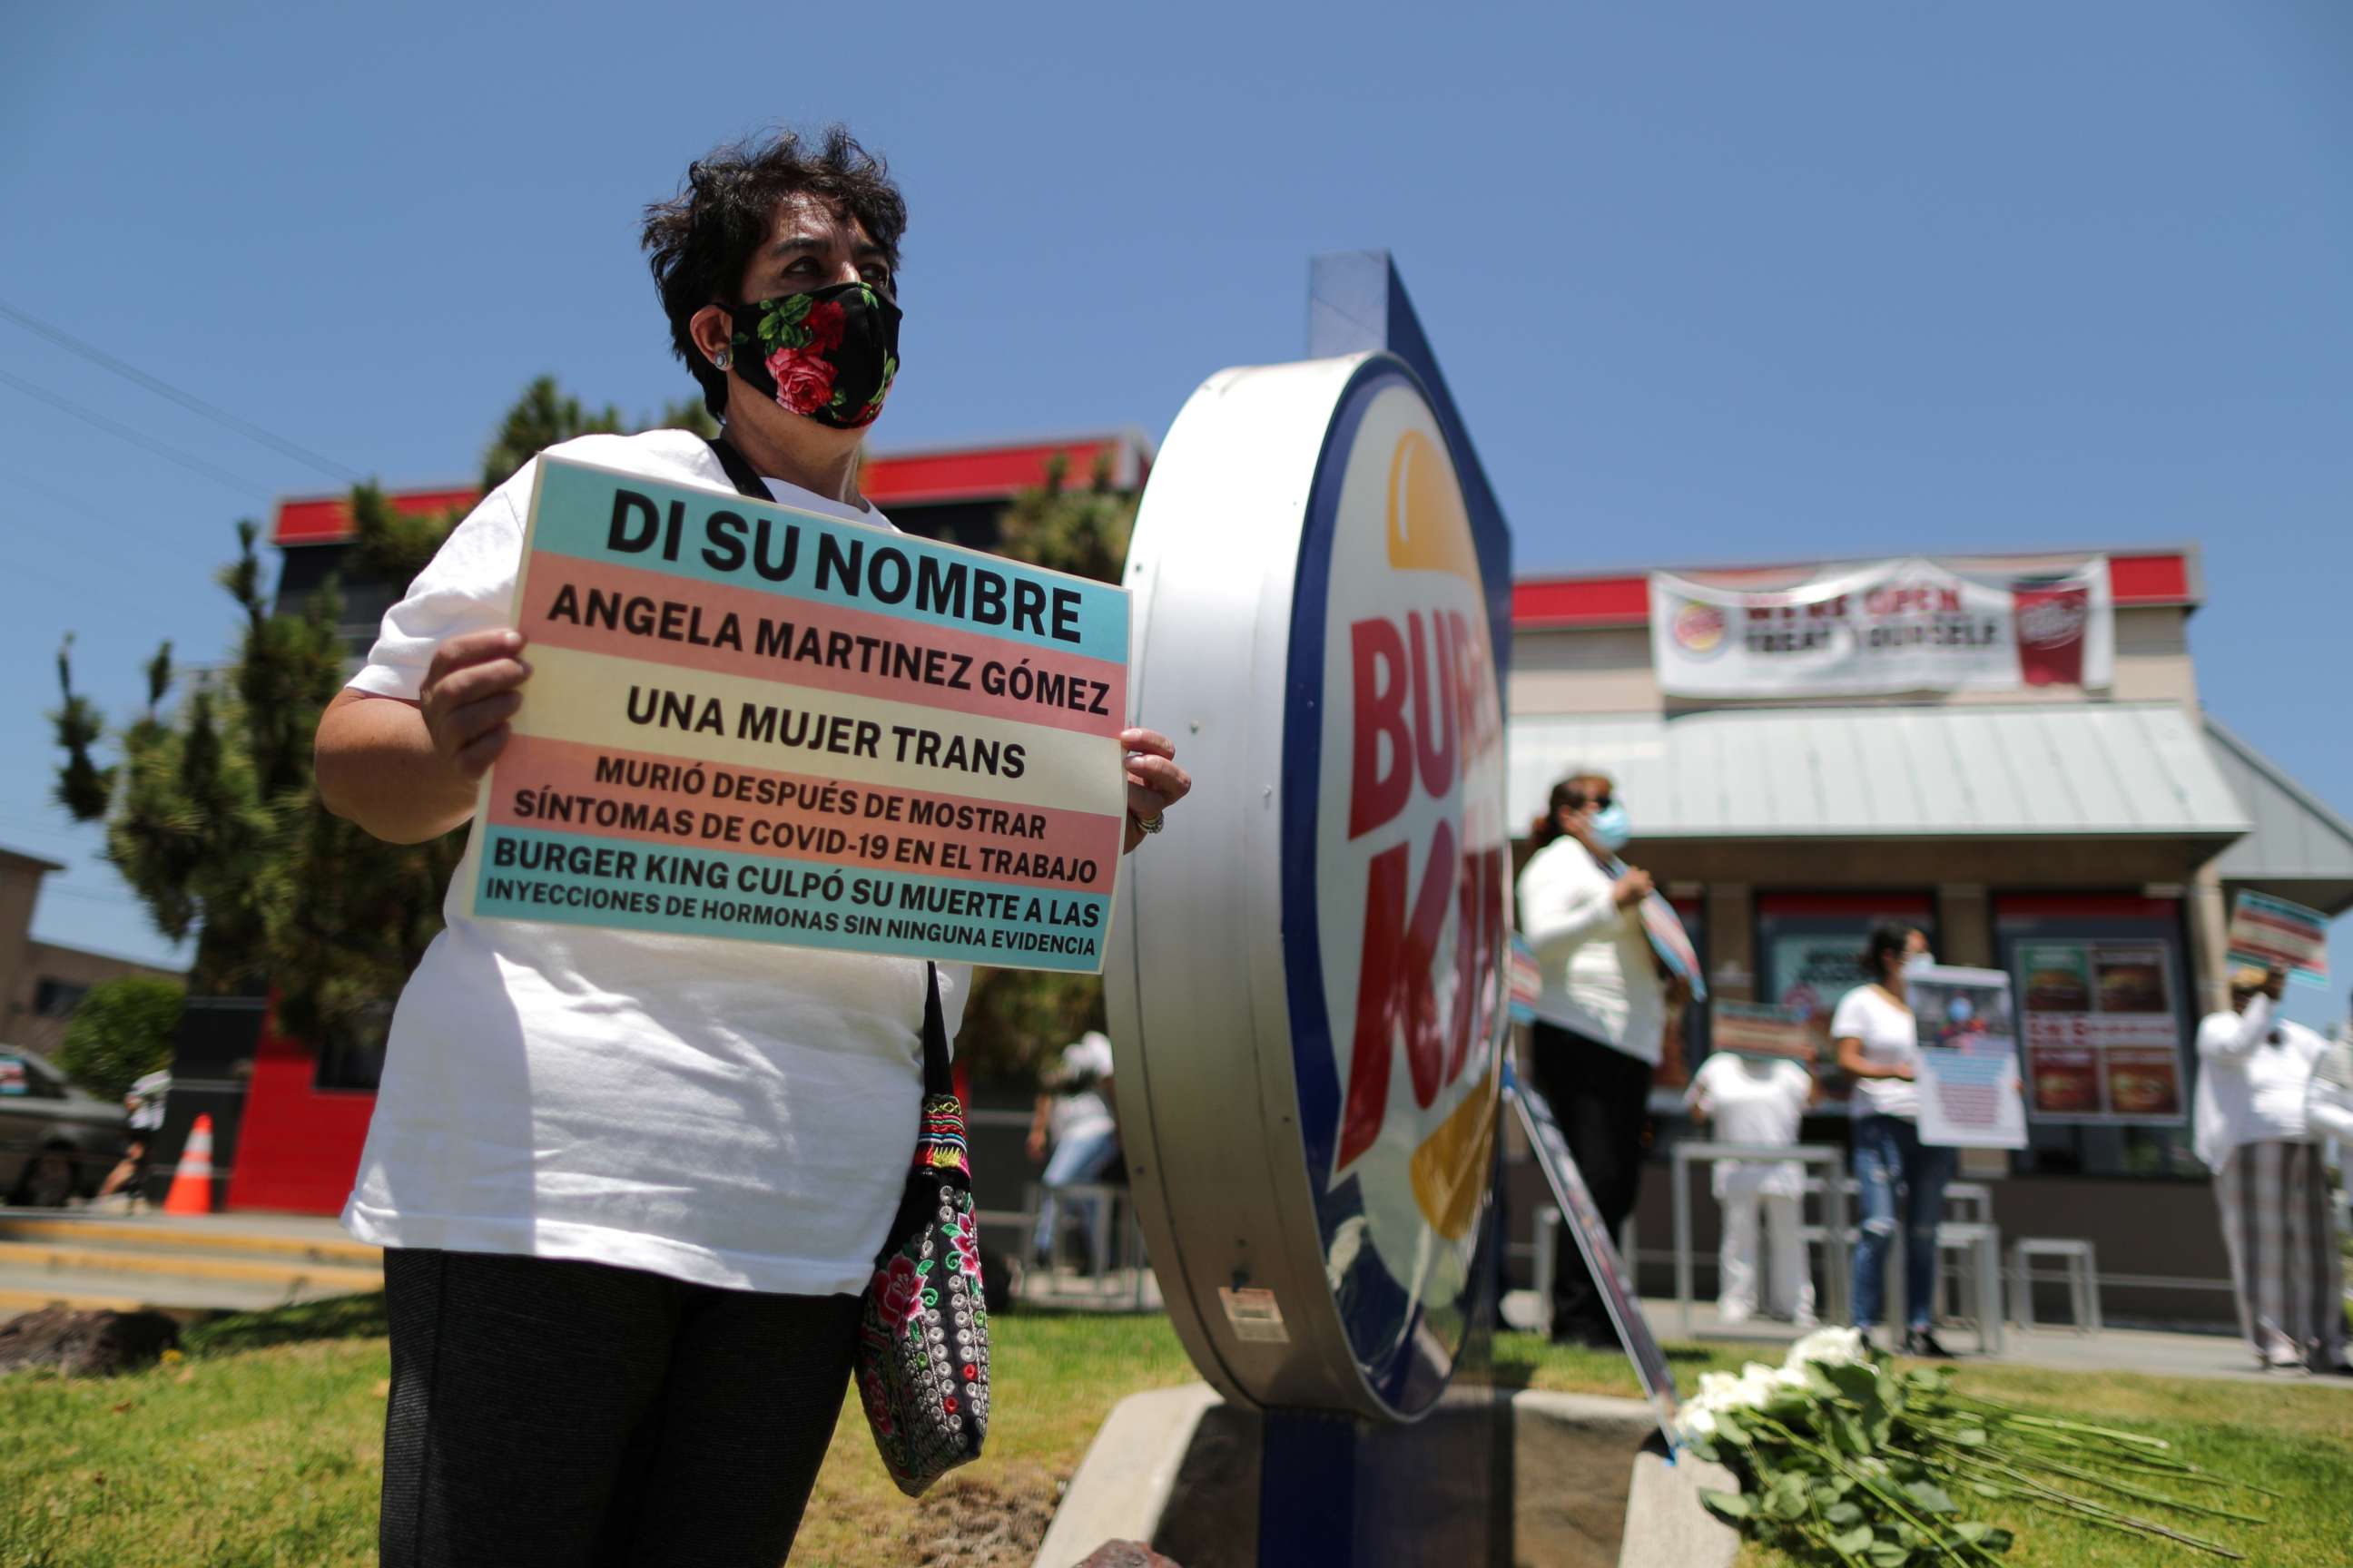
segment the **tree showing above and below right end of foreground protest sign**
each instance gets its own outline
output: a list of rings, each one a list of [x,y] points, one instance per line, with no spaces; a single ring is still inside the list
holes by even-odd
[[[998,548],[1031,567],[1118,583],[1127,571],[1127,536],[1141,496],[1113,487],[1108,458],[1096,461],[1087,489],[1068,489],[1066,477],[1068,465],[1056,456],[1047,463],[1045,484],[1012,498]],[[1033,1081],[1056,1051],[1101,1027],[1099,976],[981,969],[974,971],[958,1039],[976,1074]]]

